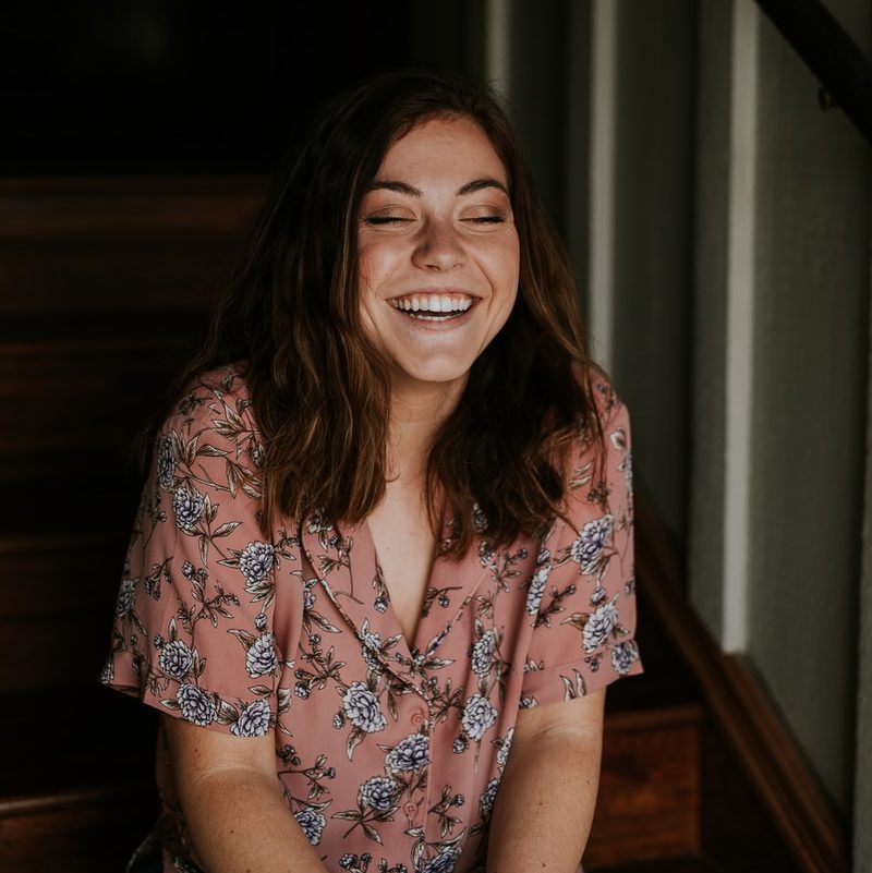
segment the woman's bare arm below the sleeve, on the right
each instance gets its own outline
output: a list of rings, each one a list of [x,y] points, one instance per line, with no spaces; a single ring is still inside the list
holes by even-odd
[[[491,823],[488,873],[578,870],[596,804],[604,703],[600,690],[518,714]]]

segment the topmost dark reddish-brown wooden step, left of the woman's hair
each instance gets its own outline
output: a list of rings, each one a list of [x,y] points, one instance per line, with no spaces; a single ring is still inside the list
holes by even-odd
[[[0,313],[203,311],[242,254],[262,177],[0,180]]]

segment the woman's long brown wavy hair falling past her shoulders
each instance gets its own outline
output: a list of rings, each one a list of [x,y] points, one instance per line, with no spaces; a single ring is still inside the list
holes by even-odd
[[[499,99],[453,75],[382,75],[325,107],[279,173],[247,253],[184,374],[243,362],[261,428],[263,525],[313,513],[358,523],[379,504],[388,471],[387,367],[361,324],[358,220],[390,146],[434,117],[475,121],[502,160],[520,242],[520,286],[501,331],[473,364],[427,464],[428,506],[445,551],[462,555],[476,522],[506,545],[560,513],[562,449],[602,441],[592,366],[569,263],[536,195]]]

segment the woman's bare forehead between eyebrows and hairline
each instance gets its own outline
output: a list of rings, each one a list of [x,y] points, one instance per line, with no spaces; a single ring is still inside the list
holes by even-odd
[[[482,174],[507,185],[508,173],[489,137],[467,116],[427,118],[396,140],[376,179],[401,179],[410,173]]]

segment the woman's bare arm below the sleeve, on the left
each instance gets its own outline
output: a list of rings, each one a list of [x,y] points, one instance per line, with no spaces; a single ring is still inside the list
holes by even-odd
[[[207,873],[325,873],[284,802],[275,738],[164,716],[193,857]]]

